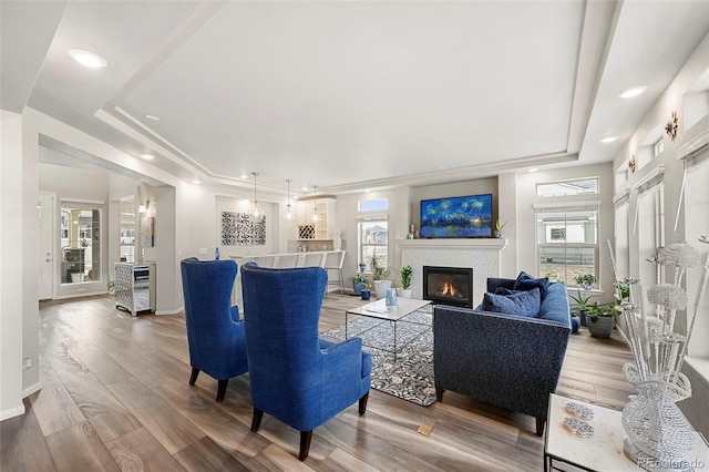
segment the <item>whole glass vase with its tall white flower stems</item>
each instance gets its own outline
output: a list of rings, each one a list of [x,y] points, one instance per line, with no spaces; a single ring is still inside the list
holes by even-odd
[[[700,243],[707,242],[705,237],[700,239]],[[709,256],[693,309],[687,310],[684,332],[678,332],[675,321],[677,311],[687,308],[682,278],[700,259],[699,252],[687,243],[660,249],[653,263],[674,268],[674,280],[648,288],[650,308],[643,306],[640,281],[625,280],[630,287],[630,297],[623,304],[623,312],[634,362],[626,363],[624,371],[638,394],[623,410],[623,427],[627,434],[625,453],[638,463],[643,458],[644,463],[681,468],[693,452],[692,428],[676,402],[691,397],[689,379],[680,370],[709,278]]]

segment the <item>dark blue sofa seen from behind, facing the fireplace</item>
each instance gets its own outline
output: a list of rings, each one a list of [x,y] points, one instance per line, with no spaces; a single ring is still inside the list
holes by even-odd
[[[512,289],[515,279],[489,278],[487,291]],[[503,315],[444,305],[434,307],[433,369],[443,392],[536,418],[542,435],[549,393],[556,390],[572,332],[566,286],[551,283],[538,317]]]

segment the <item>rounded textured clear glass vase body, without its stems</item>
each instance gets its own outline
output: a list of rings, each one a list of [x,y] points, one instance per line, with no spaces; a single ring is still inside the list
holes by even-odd
[[[623,409],[625,454],[645,469],[686,469],[695,441],[692,429],[676,402],[691,394],[685,388],[689,386],[687,378],[679,373],[681,378],[675,379],[675,383],[634,382],[638,372],[630,366],[626,366],[626,376],[638,394]]]

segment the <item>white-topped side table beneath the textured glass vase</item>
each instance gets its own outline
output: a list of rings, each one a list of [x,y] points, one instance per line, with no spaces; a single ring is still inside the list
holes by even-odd
[[[594,418],[586,421],[594,428],[592,437],[582,438],[563,427],[564,418],[573,418],[566,411],[566,403],[569,401],[594,411]],[[626,434],[620,411],[552,393],[544,433],[544,472],[561,470],[554,465],[555,462],[564,462],[586,471],[637,472],[641,470],[623,451]],[[695,432],[695,452],[689,460],[689,465],[696,470],[705,470],[705,468],[709,470],[709,444],[698,432]],[[659,472],[668,469],[651,470]]]

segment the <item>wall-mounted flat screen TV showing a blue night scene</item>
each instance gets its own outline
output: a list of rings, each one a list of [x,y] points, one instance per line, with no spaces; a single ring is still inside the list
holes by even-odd
[[[492,237],[492,194],[421,201],[422,238]]]

